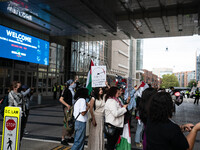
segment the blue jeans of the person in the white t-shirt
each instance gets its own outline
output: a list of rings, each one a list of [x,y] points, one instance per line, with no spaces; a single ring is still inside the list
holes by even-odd
[[[85,142],[86,122],[75,121],[74,145],[71,150],[83,150]]]

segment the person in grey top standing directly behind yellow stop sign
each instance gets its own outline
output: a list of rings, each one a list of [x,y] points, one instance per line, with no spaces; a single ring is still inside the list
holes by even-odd
[[[25,128],[25,101],[23,94],[21,93],[21,82],[13,81],[11,85],[11,91],[8,94],[8,105],[13,107],[22,108],[22,117],[21,117],[21,132],[20,132],[20,141],[22,140]]]

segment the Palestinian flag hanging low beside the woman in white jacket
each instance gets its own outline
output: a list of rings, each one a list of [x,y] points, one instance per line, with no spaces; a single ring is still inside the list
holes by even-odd
[[[131,150],[131,132],[129,122],[124,125],[123,133],[119,137],[116,150]]]

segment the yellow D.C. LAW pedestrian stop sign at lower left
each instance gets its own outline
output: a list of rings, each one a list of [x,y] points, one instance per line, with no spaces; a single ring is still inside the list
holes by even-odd
[[[1,150],[19,150],[21,108],[5,107]]]

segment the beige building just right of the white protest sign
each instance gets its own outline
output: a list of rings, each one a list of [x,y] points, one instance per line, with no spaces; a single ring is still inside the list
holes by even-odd
[[[131,78],[135,85],[136,79],[136,40],[112,40],[107,42],[104,52],[104,64],[108,81],[114,85],[116,76],[123,79]]]

